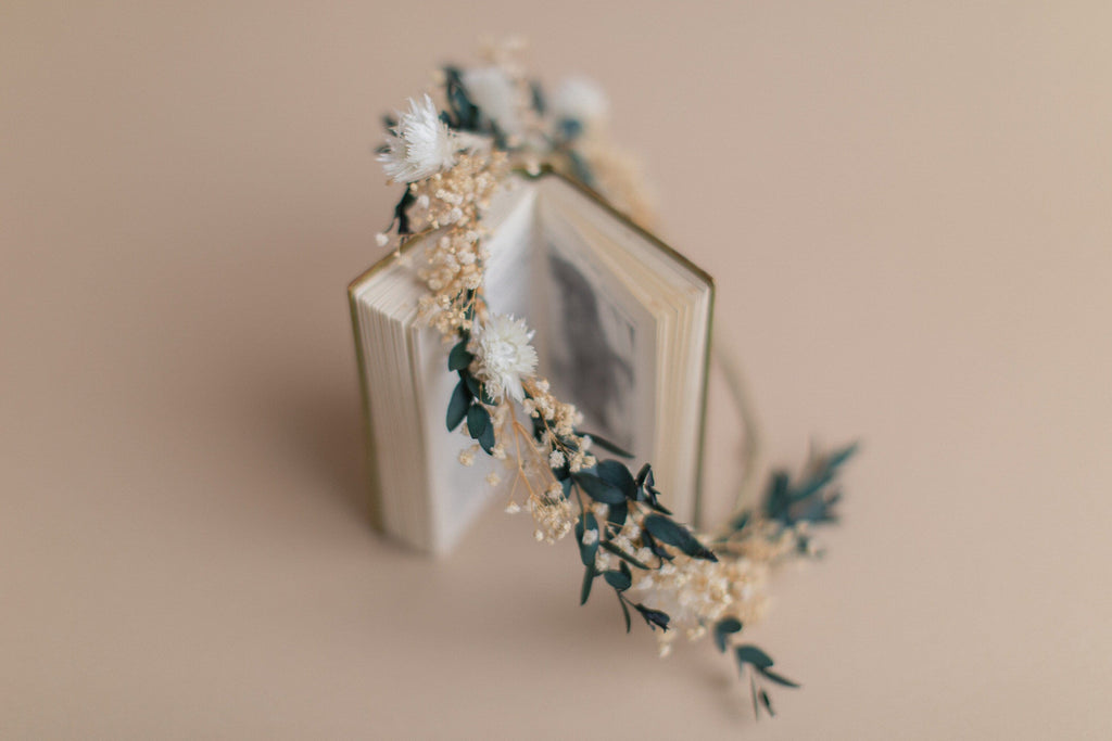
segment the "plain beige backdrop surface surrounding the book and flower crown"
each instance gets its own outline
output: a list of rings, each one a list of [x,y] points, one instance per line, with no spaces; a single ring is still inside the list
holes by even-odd
[[[678,4],[0,4],[0,737],[1112,738],[1110,7]],[[776,721],[525,522],[360,513],[378,116],[515,30],[609,89],[770,459],[865,441]]]

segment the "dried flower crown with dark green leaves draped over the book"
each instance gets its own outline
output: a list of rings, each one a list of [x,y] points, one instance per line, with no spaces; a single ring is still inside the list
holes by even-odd
[[[404,259],[405,242],[439,233],[418,269],[427,288],[420,310],[450,346],[447,370],[459,375],[446,424],[463,425],[474,441],[459,462],[473,465],[479,451],[505,461],[513,477],[506,512],[528,511],[536,540],[554,543],[574,532],[584,567],[580,604],[602,577],[626,631],[636,613],[656,631],[661,655],[678,633],[711,634],[748,677],[754,712],[773,714],[766,685],[797,684],[738,638],[763,612],[770,568],[820,552],[811,527],[836,519],[834,480],[855,447],[814,455],[795,479],[774,472],[757,504],[703,533],[672,517],[651,464],[634,472],[623,462],[633,455],[580,429],[575,405],[537,375],[525,320],[487,308],[484,214],[512,172],[543,168],[594,189],[642,226],[652,209],[631,161],[607,141],[606,96],[585,79],[546,96],[512,51],[487,50],[476,68],[445,67],[437,77],[443,106],[427,93],[410,99],[408,110],[386,117],[378,150],[388,179],[405,183],[379,247]],[[500,477],[492,471],[487,481],[496,485]]]

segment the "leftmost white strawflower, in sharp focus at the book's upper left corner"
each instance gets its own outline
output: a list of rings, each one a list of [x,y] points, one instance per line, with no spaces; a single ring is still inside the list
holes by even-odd
[[[409,111],[398,113],[393,131],[386,137],[387,150],[378,156],[390,180],[424,180],[456,163],[456,138],[427,93],[420,100],[409,99]]]

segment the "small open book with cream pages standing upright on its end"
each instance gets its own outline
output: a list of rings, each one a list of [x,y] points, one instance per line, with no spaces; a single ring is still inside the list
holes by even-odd
[[[486,299],[524,317],[538,374],[584,413],[582,431],[653,463],[665,504],[691,520],[701,485],[714,283],[589,191],[558,174],[514,178],[484,217]],[[424,327],[416,277],[437,234],[410,240],[348,288],[365,405],[374,522],[445,552],[496,492],[489,465],[465,468],[470,443],[448,432],[455,373]],[[604,454],[602,451],[595,451]],[[510,478],[510,477],[505,477]]]

